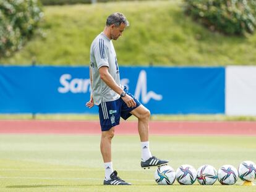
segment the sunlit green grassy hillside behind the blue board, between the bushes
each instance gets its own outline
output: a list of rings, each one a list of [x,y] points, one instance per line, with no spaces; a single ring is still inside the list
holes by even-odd
[[[114,41],[119,65],[255,65],[256,34],[211,33],[183,13],[181,1],[47,6],[43,36],[1,64],[87,65],[90,43],[106,17],[123,12],[130,27]]]

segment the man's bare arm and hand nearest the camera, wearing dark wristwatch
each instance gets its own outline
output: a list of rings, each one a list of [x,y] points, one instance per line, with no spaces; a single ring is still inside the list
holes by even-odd
[[[117,94],[121,95],[123,90],[119,85],[117,85],[116,81],[114,81],[113,77],[109,74],[108,67],[106,67],[106,66],[100,67],[99,73],[100,73],[101,80],[103,80],[106,83],[106,85],[109,86],[109,88],[114,90]],[[128,94],[126,94],[126,96],[122,97],[122,100],[124,100],[124,102],[126,102],[128,107],[136,106],[136,102]]]

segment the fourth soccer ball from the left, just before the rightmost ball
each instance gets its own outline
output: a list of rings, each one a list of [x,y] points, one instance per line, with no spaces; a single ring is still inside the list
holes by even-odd
[[[218,180],[222,185],[234,185],[238,178],[237,169],[232,165],[223,165],[218,170]]]

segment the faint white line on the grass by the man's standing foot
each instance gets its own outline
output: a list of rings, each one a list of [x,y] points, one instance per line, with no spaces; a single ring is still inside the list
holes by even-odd
[[[100,180],[103,181],[103,178],[69,178],[69,177],[1,177],[1,178],[18,178],[18,179],[38,179],[38,180]],[[152,180],[144,179],[129,179],[129,181],[136,182],[153,182]]]

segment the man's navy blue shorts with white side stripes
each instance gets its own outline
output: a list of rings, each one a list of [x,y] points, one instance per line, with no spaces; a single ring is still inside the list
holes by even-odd
[[[115,101],[101,102],[99,105],[101,131],[108,131],[112,127],[119,125],[120,117],[124,120],[128,119],[132,115],[130,112],[140,106],[140,102],[127,91],[126,86],[124,91],[134,99],[136,106],[128,107],[121,97]]]

